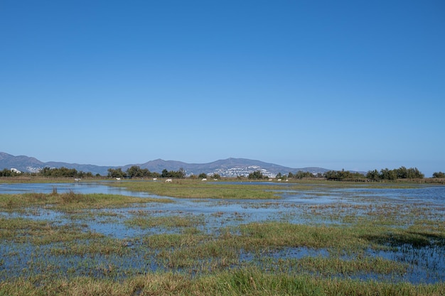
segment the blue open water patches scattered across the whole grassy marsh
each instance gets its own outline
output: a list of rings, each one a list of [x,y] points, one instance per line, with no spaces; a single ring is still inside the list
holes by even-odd
[[[75,183],[25,183],[0,184],[0,194],[21,194],[26,192],[58,193],[76,192],[82,194],[122,194],[132,197],[151,197],[165,199],[144,192],[132,192],[122,187],[112,187],[107,182],[75,182]],[[227,184],[227,182],[225,182]],[[234,183],[235,184],[235,183]],[[236,182],[237,185],[250,182]],[[267,182],[258,183],[268,185]],[[270,184],[269,184],[270,185]],[[277,185],[277,183],[274,183]],[[338,224],[348,223],[351,207],[360,214],[372,209],[385,210],[391,206],[410,204],[412,207],[427,209],[429,219],[445,223],[445,186],[416,185],[406,188],[372,187],[366,185],[350,185],[348,187],[312,186],[311,190],[294,190],[291,184],[279,185],[274,190],[281,198],[270,200],[230,200],[230,199],[183,199],[173,198],[171,203],[150,202],[143,206],[124,207],[117,209],[90,209],[87,216],[77,218],[52,209],[30,209],[23,212],[1,212],[0,217],[20,216],[27,219],[50,220],[57,224],[79,223],[87,229],[115,239],[132,239],[138,236],[175,233],[177,229],[162,227],[138,228],[124,223],[127,219],[140,213],[151,216],[186,216],[198,217],[202,223],[200,231],[212,233],[224,226],[237,226],[250,222],[286,221],[296,224]],[[356,214],[356,213],[355,213]],[[380,256],[398,262],[412,264],[408,273],[400,275],[398,280],[411,283],[437,283],[445,280],[445,238],[439,238],[441,244],[434,246],[399,246],[388,251],[372,251],[372,256]],[[9,270],[10,274],[20,274],[29,261],[32,261],[34,246],[21,246],[21,252],[11,254],[14,246],[0,243],[0,270]],[[44,252],[43,248],[42,251]],[[247,255],[246,255],[247,256]],[[301,256],[327,256],[324,249],[298,248],[282,250],[274,256],[300,258]],[[415,262],[415,264],[413,264]],[[122,264],[125,264],[122,262]],[[139,263],[132,263],[137,265]],[[151,267],[156,269],[155,266]],[[367,275],[363,278],[372,278]]]

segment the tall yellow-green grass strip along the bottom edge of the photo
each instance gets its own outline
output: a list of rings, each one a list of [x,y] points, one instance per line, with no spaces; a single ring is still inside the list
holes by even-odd
[[[95,278],[59,278],[45,285],[33,285],[33,279],[18,278],[0,282],[0,295],[444,295],[444,283],[412,285],[379,283],[337,278],[314,278],[309,275],[267,273],[257,268],[228,270],[218,275],[193,277],[178,273],[149,273],[127,280]]]

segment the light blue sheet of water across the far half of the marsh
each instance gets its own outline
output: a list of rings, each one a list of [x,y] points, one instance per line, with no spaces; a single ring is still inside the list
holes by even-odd
[[[224,182],[230,184],[230,182]],[[236,185],[252,185],[251,182],[232,182]],[[56,188],[59,193],[102,193],[122,194],[134,197],[159,197],[145,192],[132,192],[122,187],[110,187],[107,182],[80,182],[80,183],[25,183],[25,184],[0,184],[0,194],[14,194],[23,192],[53,192]],[[269,182],[254,184],[270,185]],[[277,184],[277,183],[274,183]],[[92,231],[105,235],[114,236],[119,239],[124,237],[139,236],[146,234],[149,230],[141,230],[124,226],[122,221],[132,218],[136,212],[144,212],[146,216],[181,216],[192,214],[205,216],[205,226],[201,230],[214,231],[221,226],[234,226],[252,221],[284,220],[291,223],[306,223],[312,218],[301,215],[301,206],[323,205],[323,204],[378,204],[378,203],[401,203],[422,202],[423,204],[434,204],[438,211],[443,212],[445,207],[445,186],[419,186],[417,188],[394,189],[394,188],[367,188],[345,187],[329,188],[325,186],[316,187],[311,185],[311,190],[290,190],[291,184],[280,184],[283,190],[277,191],[282,199],[183,199],[173,198],[171,203],[150,202],[148,204],[122,209],[92,209],[95,219],[87,221]],[[159,197],[165,198],[165,197]],[[95,214],[95,212],[97,214]],[[100,212],[117,213],[117,215],[101,216]],[[0,213],[1,214],[1,213]],[[2,214],[10,215],[10,214]],[[26,216],[32,219],[50,219],[58,223],[72,221],[67,215],[50,209],[32,209],[25,214],[14,214]],[[68,219],[68,220],[67,220]],[[85,221],[83,221],[85,222]],[[323,221],[329,223],[329,221]],[[165,229],[164,229],[165,230]]]

